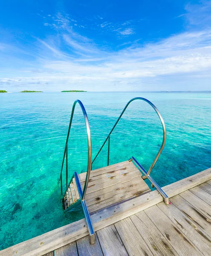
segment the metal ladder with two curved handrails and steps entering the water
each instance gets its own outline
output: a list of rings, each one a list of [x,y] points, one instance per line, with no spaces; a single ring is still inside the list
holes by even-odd
[[[104,147],[105,143],[108,140],[108,151],[107,151],[107,166],[109,165],[109,156],[110,156],[110,135],[112,134],[114,128],[116,127],[116,125],[118,124],[119,120],[121,119],[121,116],[123,115],[124,111],[127,109],[128,105],[133,102],[134,100],[143,100],[145,102],[147,102],[148,104],[150,104],[153,109],[156,111],[156,113],[159,116],[159,119],[162,123],[162,128],[163,128],[163,140],[162,140],[162,145],[152,163],[152,165],[150,166],[150,169],[148,170],[148,172],[144,169],[144,167],[136,160],[135,157],[131,157],[129,161],[133,161],[136,166],[139,168],[139,170],[145,175],[143,177],[143,179],[147,179],[150,180],[151,182],[151,186],[155,187],[157,189],[157,191],[162,195],[162,197],[164,198],[164,201],[166,204],[169,204],[169,198],[168,195],[165,194],[165,192],[161,189],[161,187],[156,183],[155,180],[153,180],[153,178],[150,176],[150,172],[152,171],[154,165],[156,164],[164,146],[165,146],[165,141],[166,141],[166,129],[165,129],[165,123],[162,119],[161,114],[159,113],[159,111],[157,110],[157,108],[155,107],[155,105],[153,105],[152,102],[150,102],[149,100],[145,99],[145,98],[141,98],[141,97],[136,97],[131,99],[127,105],[124,107],[123,111],[121,112],[119,118],[117,119],[115,125],[113,126],[113,128],[111,129],[110,133],[108,134],[106,140],[104,141],[103,145],[101,146],[100,150],[98,151],[98,154],[100,153],[101,149]],[[87,141],[88,141],[88,163],[87,163],[87,175],[86,175],[86,179],[85,179],[85,183],[84,183],[84,189],[82,190],[81,187],[81,183],[78,177],[78,173],[74,172],[74,174],[72,175],[72,178],[70,179],[69,183],[68,183],[68,139],[69,139],[69,133],[70,133],[70,129],[71,129],[71,125],[72,125],[72,118],[74,115],[74,111],[75,111],[75,105],[79,104],[82,110],[82,113],[84,115],[84,120],[85,120],[85,124],[86,124],[86,128],[87,128]],[[95,232],[92,226],[92,221],[90,218],[90,214],[87,208],[87,203],[85,200],[85,195],[86,195],[86,191],[87,191],[87,186],[88,186],[88,181],[90,178],[90,172],[92,170],[92,163],[95,161],[95,159],[98,157],[98,154],[96,154],[94,160],[92,161],[92,143],[91,143],[91,134],[90,134],[90,125],[89,125],[89,120],[87,117],[87,112],[84,108],[84,105],[82,104],[82,102],[80,100],[76,100],[73,103],[72,106],[72,113],[71,113],[71,117],[70,117],[70,122],[69,122],[69,128],[68,128],[68,133],[67,133],[67,137],[66,137],[66,144],[65,144],[65,149],[64,149],[64,156],[63,156],[63,161],[62,161],[62,167],[61,167],[61,173],[60,173],[60,179],[59,181],[61,182],[61,195],[62,195],[62,200],[63,200],[63,205],[64,205],[64,211],[69,211],[70,209],[72,209],[73,207],[75,207],[76,205],[78,205],[79,203],[82,204],[82,208],[83,208],[83,212],[84,212],[84,216],[87,222],[87,228],[90,234],[90,244],[94,244],[95,243]],[[62,185],[62,171],[63,171],[63,167],[64,167],[64,160],[66,159],[66,187],[65,187],[65,192],[63,194],[63,185]]]

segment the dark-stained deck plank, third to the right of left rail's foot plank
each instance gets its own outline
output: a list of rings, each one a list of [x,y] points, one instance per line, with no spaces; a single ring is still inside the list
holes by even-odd
[[[141,236],[145,239],[153,255],[178,256],[168,239],[160,233],[144,211],[130,216],[130,219],[133,221],[133,224],[136,226]]]

